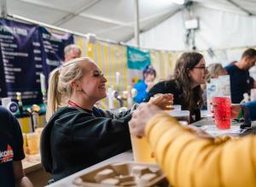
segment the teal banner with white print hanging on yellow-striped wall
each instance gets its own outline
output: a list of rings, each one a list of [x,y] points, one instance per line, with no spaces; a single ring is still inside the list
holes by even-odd
[[[127,64],[130,69],[143,70],[150,65],[150,54],[127,46]]]

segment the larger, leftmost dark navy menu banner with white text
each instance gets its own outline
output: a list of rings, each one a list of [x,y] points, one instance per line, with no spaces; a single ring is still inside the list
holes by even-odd
[[[0,97],[22,95],[23,103],[40,103],[42,71],[41,42],[38,27],[0,19]]]

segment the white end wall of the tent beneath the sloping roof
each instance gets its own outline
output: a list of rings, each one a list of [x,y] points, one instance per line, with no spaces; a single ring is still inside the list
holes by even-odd
[[[256,17],[231,14],[211,8],[194,8],[194,14],[200,18],[200,29],[195,32],[195,45],[198,50],[242,48],[256,45]],[[142,48],[160,50],[188,50],[185,46],[183,12],[141,34]],[[133,44],[133,40],[128,42]],[[224,63],[237,59],[240,54],[226,54]],[[222,57],[221,57],[222,58]]]

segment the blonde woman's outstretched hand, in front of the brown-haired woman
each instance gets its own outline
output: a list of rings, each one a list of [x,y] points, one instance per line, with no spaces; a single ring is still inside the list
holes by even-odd
[[[173,94],[155,94],[150,98],[150,104],[157,105],[162,110],[171,110],[173,103]]]

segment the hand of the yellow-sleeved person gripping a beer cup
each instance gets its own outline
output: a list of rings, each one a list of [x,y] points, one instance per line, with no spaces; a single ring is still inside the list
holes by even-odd
[[[140,104],[137,110],[132,113],[132,118],[129,122],[131,134],[138,138],[143,137],[148,121],[161,111],[156,105],[150,103]]]

